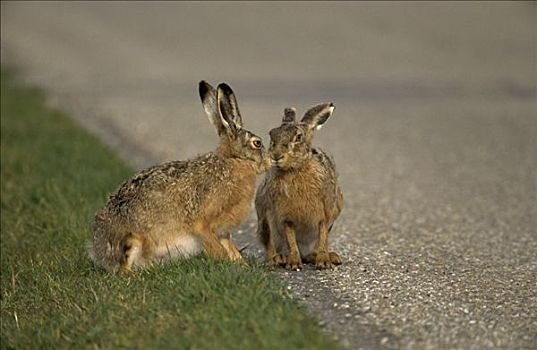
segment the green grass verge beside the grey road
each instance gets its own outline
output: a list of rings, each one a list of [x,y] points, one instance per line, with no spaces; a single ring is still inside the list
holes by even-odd
[[[1,79],[1,347],[338,347],[264,267],[94,268],[94,212],[133,170],[44,93]]]

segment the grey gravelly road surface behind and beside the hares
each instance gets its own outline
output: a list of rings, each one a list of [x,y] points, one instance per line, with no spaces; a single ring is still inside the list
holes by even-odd
[[[537,348],[535,3],[1,6],[2,63],[138,168],[215,147],[201,79],[265,140],[334,102],[345,262],[278,273],[346,347]]]

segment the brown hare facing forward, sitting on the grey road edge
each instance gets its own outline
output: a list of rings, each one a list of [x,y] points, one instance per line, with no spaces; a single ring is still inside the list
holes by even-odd
[[[332,103],[308,110],[296,122],[294,108],[286,108],[280,127],[270,131],[272,167],[257,190],[257,234],[267,260],[298,270],[302,261],[317,269],[341,264],[328,251],[328,233],[343,207],[334,160],[311,147],[315,130],[334,111]]]

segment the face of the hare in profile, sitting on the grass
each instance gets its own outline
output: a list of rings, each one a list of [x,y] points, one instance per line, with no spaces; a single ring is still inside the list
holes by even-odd
[[[259,173],[265,171],[265,146],[259,136],[239,129],[228,140],[232,157],[254,162]]]

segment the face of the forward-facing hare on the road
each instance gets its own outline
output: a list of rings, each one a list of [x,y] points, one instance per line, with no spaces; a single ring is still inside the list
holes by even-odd
[[[270,131],[269,157],[280,169],[299,168],[308,159],[311,136],[303,123],[284,123]]]

